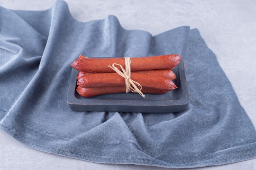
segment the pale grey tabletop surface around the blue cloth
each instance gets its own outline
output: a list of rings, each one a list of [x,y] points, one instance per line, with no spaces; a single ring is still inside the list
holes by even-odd
[[[55,0],[0,0],[0,6],[45,10]],[[71,14],[87,22],[117,16],[125,29],[157,35],[178,26],[198,28],[216,54],[256,127],[256,0],[66,0]],[[0,170],[173,170],[137,165],[100,164],[40,152],[0,130]],[[187,169],[186,169],[187,170]],[[256,159],[193,170],[256,170]]]

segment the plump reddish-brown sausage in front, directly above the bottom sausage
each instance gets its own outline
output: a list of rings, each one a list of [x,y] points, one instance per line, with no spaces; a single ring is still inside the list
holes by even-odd
[[[162,91],[171,91],[177,88],[172,80],[155,75],[131,73],[131,79],[141,84],[142,88],[154,88]],[[117,73],[98,73],[80,77],[77,80],[77,85],[82,88],[125,87],[125,79]]]

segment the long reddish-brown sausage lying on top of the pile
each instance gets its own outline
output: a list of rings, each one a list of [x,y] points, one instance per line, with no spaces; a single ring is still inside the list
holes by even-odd
[[[115,72],[108,67],[113,63],[121,64],[125,68],[124,58],[88,58],[79,57],[82,59],[75,60],[71,67],[78,71],[84,72]],[[151,57],[133,57],[131,59],[131,71],[141,70],[156,70],[156,69],[170,69],[180,63],[180,55],[158,55]]]

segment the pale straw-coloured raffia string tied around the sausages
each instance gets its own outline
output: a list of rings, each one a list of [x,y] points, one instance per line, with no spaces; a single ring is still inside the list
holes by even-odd
[[[112,68],[115,72],[117,72],[119,75],[125,78],[125,86],[126,86],[126,93],[129,93],[130,91],[133,93],[139,93],[142,97],[146,97],[142,92],[142,86],[131,79],[131,60],[130,57],[124,57],[125,59],[125,69],[123,66],[117,63],[113,63],[112,66],[108,66]],[[121,71],[116,67],[119,66],[121,68]]]

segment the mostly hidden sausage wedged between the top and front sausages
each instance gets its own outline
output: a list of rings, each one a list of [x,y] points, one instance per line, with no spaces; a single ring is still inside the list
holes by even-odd
[[[173,80],[173,79],[176,79],[176,78],[177,78],[176,75],[175,75],[175,73],[173,73],[173,71],[171,71],[170,69],[132,71],[132,73],[156,75],[156,76],[168,78],[168,79],[170,79],[170,80]],[[95,73],[95,72],[83,72],[83,71],[79,71],[79,73],[78,73],[78,75],[77,75],[77,79],[79,79],[80,77],[82,77],[82,76],[84,76],[84,75],[91,75],[91,74],[96,74],[96,73]]]

